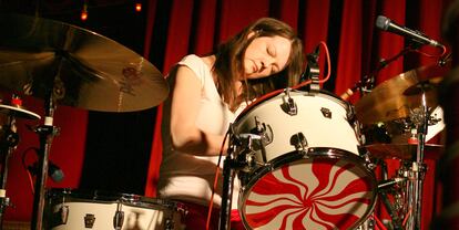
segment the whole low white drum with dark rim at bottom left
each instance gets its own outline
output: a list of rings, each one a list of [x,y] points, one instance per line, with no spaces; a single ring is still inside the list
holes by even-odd
[[[52,189],[47,229],[185,229],[182,203],[136,195]]]

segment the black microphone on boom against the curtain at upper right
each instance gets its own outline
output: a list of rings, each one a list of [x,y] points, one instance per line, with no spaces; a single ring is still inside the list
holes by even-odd
[[[378,18],[376,19],[376,27],[384,31],[388,31],[388,32],[392,32],[392,33],[406,36],[415,42],[418,42],[419,44],[429,44],[429,45],[434,45],[437,48],[443,46],[439,42],[427,36],[426,34],[417,30],[411,30],[406,27],[399,25],[384,15],[378,15]]]

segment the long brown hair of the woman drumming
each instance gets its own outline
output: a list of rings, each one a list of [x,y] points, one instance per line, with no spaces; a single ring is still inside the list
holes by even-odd
[[[254,35],[249,36],[251,33]],[[237,76],[243,74],[243,59],[248,44],[256,38],[275,35],[292,41],[286,67],[269,77],[245,81],[243,93],[238,95],[234,83],[238,81]],[[220,44],[214,54],[216,60],[213,70],[217,76],[217,90],[231,109],[237,108],[244,100],[253,100],[276,88],[297,84],[304,67],[302,41],[288,24],[273,18],[262,18],[247,25]]]

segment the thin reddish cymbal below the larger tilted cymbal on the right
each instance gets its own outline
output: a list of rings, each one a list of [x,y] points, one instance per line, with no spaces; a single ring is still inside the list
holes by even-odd
[[[418,146],[414,144],[371,144],[365,146],[373,157],[380,159],[398,158],[406,160],[410,160],[416,157],[417,147]],[[426,144],[425,157],[428,159],[438,159],[442,150],[443,145]]]

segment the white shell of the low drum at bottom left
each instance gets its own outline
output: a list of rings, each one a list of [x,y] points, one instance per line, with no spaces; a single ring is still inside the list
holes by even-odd
[[[139,197],[139,196],[136,196]],[[123,224],[121,229],[145,229],[145,230],[178,230],[185,229],[183,217],[185,210],[177,207],[175,202],[160,199],[145,199],[142,201],[123,200],[120,195],[118,200],[106,200],[94,197],[88,199],[74,194],[54,195],[49,200],[49,210],[60,213],[61,208],[68,210],[67,222],[51,226],[53,230],[72,230],[72,229],[114,229],[113,221],[116,210],[123,212]],[[85,226],[85,219],[92,216],[94,219],[91,227]],[[52,222],[52,221],[49,221]]]

